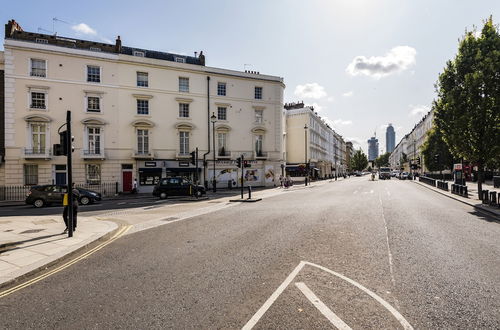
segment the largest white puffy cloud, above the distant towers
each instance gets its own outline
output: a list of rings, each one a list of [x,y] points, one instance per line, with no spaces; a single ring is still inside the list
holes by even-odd
[[[409,46],[392,48],[384,56],[356,56],[346,68],[352,76],[365,75],[380,79],[408,69],[415,64],[417,51]]]

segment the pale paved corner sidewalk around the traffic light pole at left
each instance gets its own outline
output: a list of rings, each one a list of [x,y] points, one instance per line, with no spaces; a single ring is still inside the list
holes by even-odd
[[[62,234],[64,228],[62,216],[2,217],[0,287],[112,234],[118,225],[79,216],[73,237]]]

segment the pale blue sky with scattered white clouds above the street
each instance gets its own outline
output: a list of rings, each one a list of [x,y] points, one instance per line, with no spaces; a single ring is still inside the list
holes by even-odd
[[[396,143],[411,130],[458,39],[490,15],[500,22],[500,1],[46,0],[3,3],[0,21],[97,41],[120,35],[146,49],[203,50],[208,66],[283,77],[285,102],[315,105],[366,151],[375,131],[385,150],[387,123]]]

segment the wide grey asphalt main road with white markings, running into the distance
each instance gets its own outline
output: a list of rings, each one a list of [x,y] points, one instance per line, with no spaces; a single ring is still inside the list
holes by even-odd
[[[408,181],[283,191],[127,235],[0,328],[500,328],[500,223]]]

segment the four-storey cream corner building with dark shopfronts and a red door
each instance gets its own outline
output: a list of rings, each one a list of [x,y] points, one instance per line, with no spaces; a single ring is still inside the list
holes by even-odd
[[[68,110],[77,184],[128,192],[136,179],[148,192],[161,177],[211,185],[215,176],[220,187],[239,186],[243,170],[245,185],[275,185],[285,163],[283,78],[205,61],[203,52],[32,33],[9,21],[0,52],[0,186],[66,183],[66,159],[52,145]],[[241,155],[250,167],[237,168]]]

